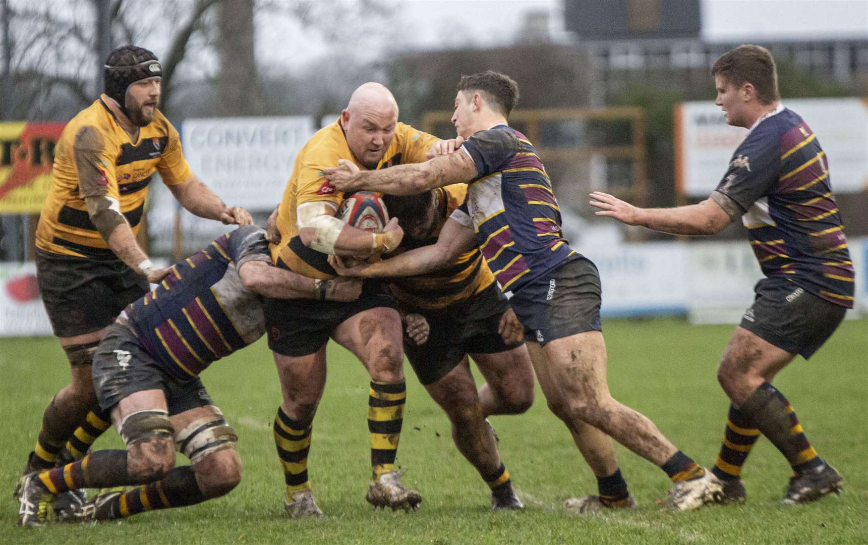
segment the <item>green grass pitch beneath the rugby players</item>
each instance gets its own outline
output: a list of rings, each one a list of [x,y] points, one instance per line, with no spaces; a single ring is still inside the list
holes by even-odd
[[[714,378],[732,326],[692,326],[674,319],[608,320],[609,384],[699,463],[713,464],[727,415]],[[775,384],[795,406],[808,438],[845,477],[845,491],[804,506],[778,501],[791,475],[783,456],[760,439],[746,463],[748,502],[688,513],[659,509],[668,479],[619,447],[621,469],[641,503],[634,512],[565,515],[564,499],[595,493],[595,480],[566,428],[534,406],[518,417],[493,417],[500,451],[527,505],[492,513],[487,487],[458,454],[443,412],[407,372],[407,406],[398,463],[404,483],[424,496],[417,513],[373,511],[365,502],[370,476],[368,378],[335,345],[313,425],[309,470],[321,520],[293,521],[283,512],[283,475],[271,432],[280,395],[266,343],[240,351],[203,374],[208,391],[240,436],[240,486],[228,496],[186,509],[136,515],[92,526],[16,527],[6,496],[3,534],[10,543],[841,543],[868,542],[868,320],[841,325],[806,363],[797,359]],[[69,379],[53,338],[0,340],[0,492],[10,494],[32,449],[49,398]],[[122,448],[109,430],[96,448]],[[182,460],[183,456],[179,455]]]

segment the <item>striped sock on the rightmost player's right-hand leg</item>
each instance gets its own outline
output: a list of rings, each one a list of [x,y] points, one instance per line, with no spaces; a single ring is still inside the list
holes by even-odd
[[[772,384],[759,384],[742,404],[741,411],[786,456],[795,473],[823,464],[805,436],[792,404]]]

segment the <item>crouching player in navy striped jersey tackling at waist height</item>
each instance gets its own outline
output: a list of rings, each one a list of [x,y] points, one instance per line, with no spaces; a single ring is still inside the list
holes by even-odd
[[[178,261],[108,328],[93,360],[100,408],[126,450],[97,450],[22,477],[18,523],[85,522],[184,507],[239,483],[237,437],[199,375],[266,331],[262,297],[352,301],[361,282],[314,280],[271,263],[265,231],[240,227]],[[175,447],[190,465],[174,467]],[[46,515],[41,503],[69,489],[112,491]]]

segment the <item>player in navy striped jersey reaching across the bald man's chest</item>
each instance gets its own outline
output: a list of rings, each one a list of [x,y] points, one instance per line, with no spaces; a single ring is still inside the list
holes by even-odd
[[[343,191],[416,194],[469,182],[437,243],[372,266],[358,276],[417,275],[477,244],[524,328],[530,358],[549,408],[567,424],[597,476],[599,496],[567,501],[569,510],[634,507],[615,460],[612,438],[661,467],[673,480],[668,505],[693,509],[713,502],[721,483],[674,447],[647,417],[608,391],[600,325],[600,278],[593,263],[569,247],[561,213],[536,150],[507,124],[518,87],[487,71],[458,83],[452,122],[460,151],[418,165],[358,172],[342,161],[325,177]]]

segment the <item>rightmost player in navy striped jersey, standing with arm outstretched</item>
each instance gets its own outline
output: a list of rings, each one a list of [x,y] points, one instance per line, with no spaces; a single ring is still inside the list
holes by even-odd
[[[591,194],[598,215],[676,234],[714,234],[741,220],[766,275],[729,339],[718,380],[732,404],[713,473],[724,502],[744,502],[741,467],[759,434],[792,466],[784,503],[839,492],[841,476],[807,440],[774,376],[797,354],[810,358],[853,306],[854,274],[829,168],[817,136],[780,103],[771,53],[742,45],[714,63],[727,123],[750,129],[707,200],[677,208],[636,208]]]

